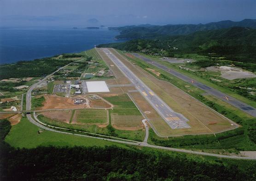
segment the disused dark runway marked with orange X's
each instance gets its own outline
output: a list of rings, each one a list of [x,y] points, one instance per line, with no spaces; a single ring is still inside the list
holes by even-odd
[[[171,68],[168,68],[168,67],[166,67],[166,66],[164,66],[164,65],[162,65],[162,64],[160,64],[158,62],[154,62],[154,61],[152,61],[149,58],[141,56],[140,54],[133,53],[133,55],[135,57],[140,58],[141,60],[144,60],[145,62],[147,62],[147,63],[149,63],[149,64],[151,64],[153,66],[156,66],[157,68],[161,68],[165,72],[168,72],[169,74],[172,74],[175,77],[184,80],[185,82],[188,82],[190,84],[192,83],[192,79],[190,77],[186,76],[186,75],[180,74],[179,72],[177,72],[177,71],[175,71],[175,70],[173,70]],[[210,95],[213,95],[213,96],[221,99],[222,101],[225,101],[225,102],[231,104],[232,106],[239,108],[240,110],[244,111],[245,113],[248,113],[248,114],[250,114],[253,117],[256,117],[256,109],[254,107],[251,107],[248,104],[245,104],[244,102],[241,102],[241,101],[235,99],[232,96],[228,96],[227,94],[224,94],[221,91],[216,90],[214,88],[211,88],[211,87],[209,87],[207,85],[204,85],[204,84],[202,84],[202,83],[200,83],[198,81],[193,81],[193,85],[195,85],[196,87],[198,87],[201,90],[206,91]]]

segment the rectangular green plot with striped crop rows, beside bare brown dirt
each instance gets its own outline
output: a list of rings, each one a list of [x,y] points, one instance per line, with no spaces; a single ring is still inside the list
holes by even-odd
[[[104,124],[108,122],[107,110],[83,109],[76,110],[72,123],[79,124]]]

